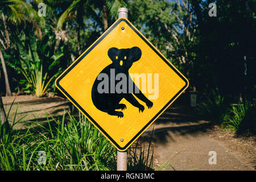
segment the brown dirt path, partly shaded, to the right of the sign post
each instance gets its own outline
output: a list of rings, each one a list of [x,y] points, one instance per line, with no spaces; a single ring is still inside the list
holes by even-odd
[[[255,138],[235,141],[234,134],[227,137],[194,115],[190,108],[170,107],[143,135],[150,136],[154,127],[155,168],[171,160],[176,170],[254,170]],[[216,152],[216,164],[209,164],[210,151]]]

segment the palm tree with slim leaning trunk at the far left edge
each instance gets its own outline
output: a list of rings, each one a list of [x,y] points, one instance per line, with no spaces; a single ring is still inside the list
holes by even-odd
[[[36,25],[39,36],[42,36],[40,27],[35,22],[36,17],[36,11],[26,1],[3,0],[0,2],[0,21],[2,22],[2,26],[0,26],[0,59],[3,75],[5,76],[6,96],[11,96],[11,89],[2,50],[11,48],[11,30],[8,24],[18,24],[25,21],[31,22]]]

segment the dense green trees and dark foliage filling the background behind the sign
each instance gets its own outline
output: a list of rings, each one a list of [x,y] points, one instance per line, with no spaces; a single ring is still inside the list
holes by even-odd
[[[126,6],[131,22],[189,79],[187,96],[196,90],[204,110],[220,99],[217,112],[224,115],[234,111],[231,104],[254,106],[256,1],[214,2],[216,16],[209,16],[208,0],[2,0],[1,93],[61,95],[54,78],[117,19],[118,7]],[[45,16],[39,16],[42,7]],[[223,122],[217,117],[211,119]]]

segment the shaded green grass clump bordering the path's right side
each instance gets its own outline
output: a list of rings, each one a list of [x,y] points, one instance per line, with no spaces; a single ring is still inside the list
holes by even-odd
[[[214,94],[213,94],[214,95]],[[255,100],[244,98],[243,102],[238,100],[238,104],[224,102],[224,97],[214,95],[208,101],[200,104],[199,114],[205,119],[209,119],[216,125],[221,125],[225,129],[235,130],[237,134],[256,134],[256,108]]]

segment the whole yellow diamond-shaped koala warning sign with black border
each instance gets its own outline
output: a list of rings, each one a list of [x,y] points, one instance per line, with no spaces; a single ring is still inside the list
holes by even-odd
[[[125,151],[188,87],[188,80],[119,18],[57,79],[61,92]]]

